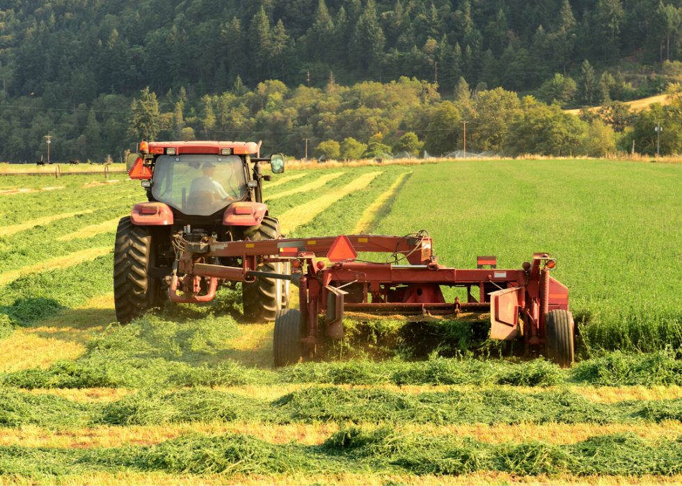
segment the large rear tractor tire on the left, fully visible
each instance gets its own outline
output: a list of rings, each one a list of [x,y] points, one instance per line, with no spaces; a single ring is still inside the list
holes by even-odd
[[[116,318],[127,324],[154,302],[155,285],[148,277],[152,235],[144,226],[121,218],[113,250],[113,302]]]

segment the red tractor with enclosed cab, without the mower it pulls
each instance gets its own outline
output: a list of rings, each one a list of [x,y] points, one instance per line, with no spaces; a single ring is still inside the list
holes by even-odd
[[[143,142],[140,153],[128,157],[129,175],[141,180],[148,202],[135,204],[116,231],[113,289],[120,323],[168,298],[171,275],[177,278],[180,251],[173,235],[178,232],[194,243],[282,238],[278,220],[262,202],[262,181],[271,179],[262,174],[262,164],[280,174],[284,158],[251,156],[259,150],[259,144],[243,142]],[[210,263],[243,265],[240,257],[214,257]],[[257,266],[264,273],[290,273],[288,262],[261,259]],[[182,302],[207,302],[210,298],[199,294],[212,298],[216,284],[208,289],[206,282],[181,275],[174,287],[184,293]],[[244,282],[244,318],[274,321],[277,311],[289,305],[289,284],[267,277]]]

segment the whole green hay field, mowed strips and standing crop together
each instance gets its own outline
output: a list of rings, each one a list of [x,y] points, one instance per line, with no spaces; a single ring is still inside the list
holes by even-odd
[[[239,288],[116,323],[113,236],[138,181],[3,177],[0,483],[679,484],[681,181],[595,160],[274,176],[287,236],[427,229],[458,268],[549,252],[581,362],[512,359],[468,323],[379,321],[273,370],[273,325],[241,323]]]

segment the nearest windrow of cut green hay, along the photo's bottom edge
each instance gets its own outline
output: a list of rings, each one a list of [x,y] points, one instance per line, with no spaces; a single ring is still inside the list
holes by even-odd
[[[474,471],[516,474],[669,476],[682,471],[682,440],[633,433],[577,444],[507,442],[471,437],[347,428],[321,445],[271,444],[251,435],[187,435],[154,446],[122,448],[0,448],[0,470],[41,482],[95,471],[173,474],[413,473],[459,476]]]

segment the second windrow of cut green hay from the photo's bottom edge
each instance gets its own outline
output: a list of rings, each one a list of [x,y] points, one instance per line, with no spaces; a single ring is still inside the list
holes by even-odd
[[[571,391],[424,391],[309,387],[276,400],[194,388],[147,389],[116,401],[77,402],[51,394],[0,390],[0,426],[84,428],[160,426],[169,423],[393,423],[447,426],[484,423],[665,423],[682,422],[682,399],[598,403]]]

